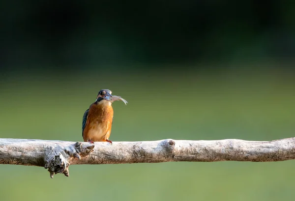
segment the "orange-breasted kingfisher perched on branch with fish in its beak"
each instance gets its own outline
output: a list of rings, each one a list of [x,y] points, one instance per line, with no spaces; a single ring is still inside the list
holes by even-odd
[[[82,122],[82,136],[84,142],[109,142],[112,123],[114,119],[114,110],[112,103],[116,100],[126,100],[119,96],[112,95],[109,89],[102,89],[98,92],[95,102],[85,111]]]

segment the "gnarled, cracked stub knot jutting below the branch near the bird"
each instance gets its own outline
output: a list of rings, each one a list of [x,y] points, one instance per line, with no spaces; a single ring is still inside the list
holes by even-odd
[[[62,173],[69,176],[69,165],[71,158],[78,158],[87,156],[93,151],[94,145],[88,143],[76,142],[74,145],[67,147],[51,146],[45,151],[45,166],[48,168],[50,177],[53,178],[54,174]]]

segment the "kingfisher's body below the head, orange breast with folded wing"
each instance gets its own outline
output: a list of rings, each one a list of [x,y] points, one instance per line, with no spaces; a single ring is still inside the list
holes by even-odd
[[[113,116],[114,110],[109,101],[101,100],[91,104],[87,123],[83,131],[84,141],[105,142],[106,139],[109,139]]]

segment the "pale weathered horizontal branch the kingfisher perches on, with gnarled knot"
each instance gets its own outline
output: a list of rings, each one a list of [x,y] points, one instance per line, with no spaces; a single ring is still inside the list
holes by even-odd
[[[169,161],[283,161],[295,159],[295,138],[273,141],[158,140],[68,142],[0,138],[0,164],[40,166],[50,176],[69,176],[69,165],[159,163]]]

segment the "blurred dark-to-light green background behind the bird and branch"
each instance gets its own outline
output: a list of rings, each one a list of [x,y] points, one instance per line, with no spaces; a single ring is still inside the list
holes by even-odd
[[[294,2],[1,1],[0,137],[82,141],[108,88],[112,141],[294,137]],[[0,201],[294,200],[294,161],[0,165]]]

